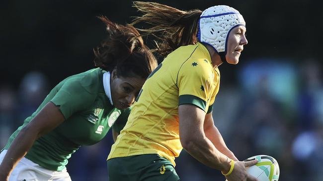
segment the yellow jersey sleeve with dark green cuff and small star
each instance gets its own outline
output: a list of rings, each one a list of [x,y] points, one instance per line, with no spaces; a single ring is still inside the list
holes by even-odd
[[[177,77],[179,103],[193,104],[207,112],[212,96],[214,74],[211,65],[203,60],[188,59],[180,68]]]

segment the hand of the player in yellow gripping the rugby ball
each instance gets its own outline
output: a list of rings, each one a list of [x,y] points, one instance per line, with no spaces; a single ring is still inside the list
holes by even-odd
[[[229,176],[226,176],[228,181],[258,181],[255,177],[246,172],[246,167],[255,165],[258,160],[252,160],[247,162],[235,162],[235,167]]]

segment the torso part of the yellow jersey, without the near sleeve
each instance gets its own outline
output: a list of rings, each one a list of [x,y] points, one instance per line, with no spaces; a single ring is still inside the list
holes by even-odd
[[[115,155],[123,155],[124,151],[130,155],[145,152],[159,153],[164,157],[179,155],[182,149],[178,122],[179,71],[190,71],[191,68],[196,68],[196,65],[203,65],[206,71],[210,71],[211,74],[214,72],[210,62],[206,60],[209,56],[205,51],[201,51],[199,46],[201,45],[178,48],[150,75],[121,132],[121,141],[116,141]],[[212,75],[210,77],[212,78]],[[194,82],[192,86],[195,86]],[[166,155],[162,155],[160,151]],[[112,156],[111,153],[109,157]]]

